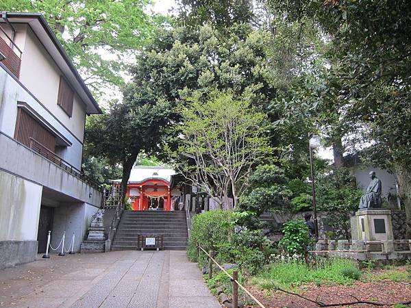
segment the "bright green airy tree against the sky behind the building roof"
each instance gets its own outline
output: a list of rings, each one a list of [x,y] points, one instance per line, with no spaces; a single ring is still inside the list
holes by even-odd
[[[41,12],[86,84],[123,86],[130,58],[164,18],[149,14],[149,0],[3,0],[0,10]]]

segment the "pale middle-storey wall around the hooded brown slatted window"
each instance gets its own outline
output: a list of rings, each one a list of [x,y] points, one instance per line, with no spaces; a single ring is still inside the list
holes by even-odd
[[[39,78],[41,79],[41,78]],[[64,138],[71,142],[71,146],[65,147],[59,153],[61,157],[75,168],[80,169],[82,165],[83,144],[77,140],[75,135],[69,131],[50,110],[46,110],[35,97],[25,90],[12,76],[0,67],[0,131],[13,137],[16,127],[17,103],[27,103],[37,114],[54,127]],[[84,115],[83,115],[84,120]],[[84,127],[82,127],[84,129]],[[82,140],[82,139],[81,139]]]

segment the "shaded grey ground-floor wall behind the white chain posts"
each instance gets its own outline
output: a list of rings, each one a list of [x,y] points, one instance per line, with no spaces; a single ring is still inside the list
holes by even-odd
[[[88,203],[62,203],[60,207],[56,207],[53,216],[51,246],[57,247],[64,231],[66,231],[65,250],[69,251],[74,233],[74,250],[79,252],[80,244],[87,235],[88,227],[90,227],[91,217],[97,210],[97,207]],[[58,249],[58,252],[60,251]]]

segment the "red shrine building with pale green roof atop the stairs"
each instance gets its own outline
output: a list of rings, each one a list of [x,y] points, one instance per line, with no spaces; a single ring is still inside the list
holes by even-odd
[[[132,209],[177,209],[181,192],[170,188],[172,175],[175,175],[175,171],[169,167],[134,166],[127,184],[127,197],[132,203]]]

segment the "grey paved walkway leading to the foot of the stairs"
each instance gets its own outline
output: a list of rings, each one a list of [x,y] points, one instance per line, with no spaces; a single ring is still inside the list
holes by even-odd
[[[113,251],[0,270],[0,307],[221,307],[185,251]]]

